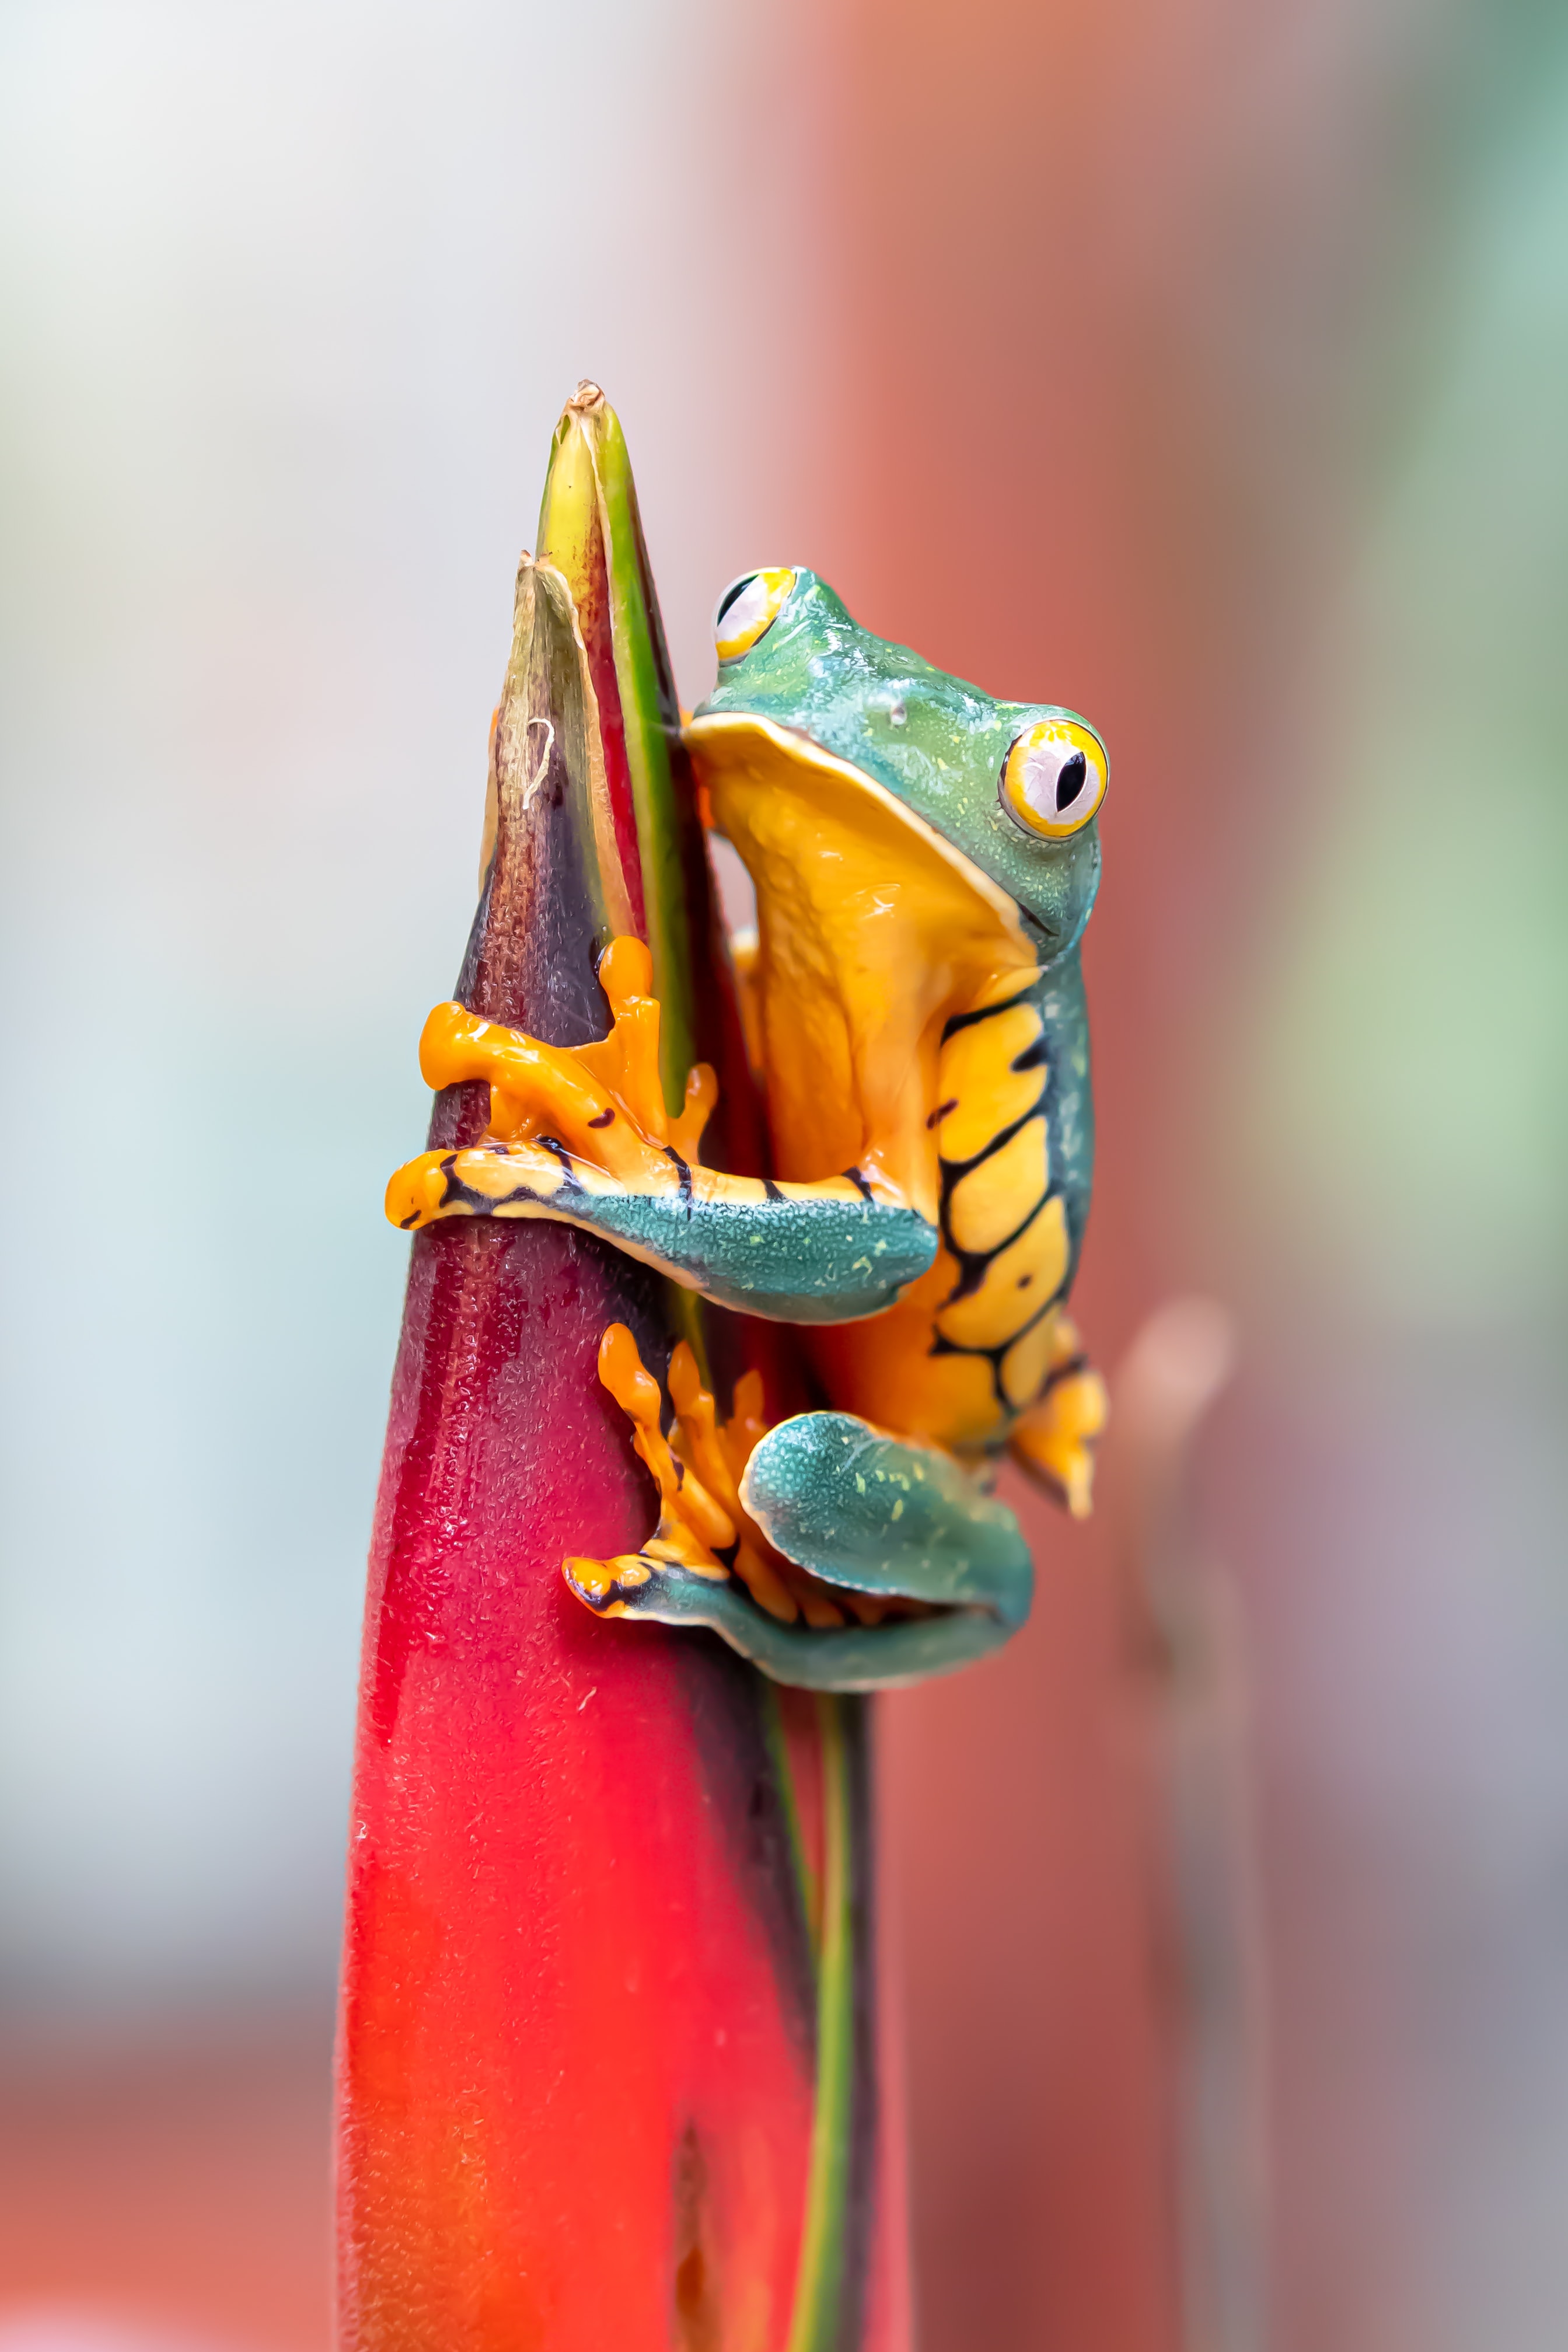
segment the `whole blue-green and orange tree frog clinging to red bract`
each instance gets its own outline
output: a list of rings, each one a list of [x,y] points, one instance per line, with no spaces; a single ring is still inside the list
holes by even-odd
[[[1105,1392],[1065,1301],[1093,1164],[1079,941],[1105,746],[875,637],[804,567],[743,574],[715,640],[686,746],[757,889],[738,978],[773,1176],[703,1167],[712,1073],[670,1117],[649,953],[616,941],[599,1044],[435,1009],[423,1075],[487,1082],[491,1129],[400,1169],[388,1216],[567,1218],[799,1324],[825,1409],[769,1428],[748,1376],[719,1425],[677,1348],[672,1437],[630,1331],[607,1334],[663,1519],[567,1581],[602,1613],[712,1625],[780,1682],[879,1689],[1025,1621],[1030,1552],[987,1494],[1004,1449],[1088,1510]]]

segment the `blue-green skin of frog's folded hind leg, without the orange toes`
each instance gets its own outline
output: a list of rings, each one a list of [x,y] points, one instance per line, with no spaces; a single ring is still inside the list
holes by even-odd
[[[590,1609],[712,1625],[773,1682],[889,1691],[999,1649],[1030,1613],[1034,1569],[1018,1519],[945,1454],[884,1437],[853,1414],[799,1414],[757,1444],[741,1498],[766,1538],[823,1583],[907,1599],[929,1616],[809,1630],[766,1616],[731,1578],[639,1555],[625,1583],[567,1581]],[[583,1569],[590,1564],[583,1562]]]

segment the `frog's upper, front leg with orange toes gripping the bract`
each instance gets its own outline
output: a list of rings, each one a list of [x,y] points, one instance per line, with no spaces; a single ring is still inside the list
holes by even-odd
[[[421,1152],[393,1176],[395,1225],[564,1218],[719,1305],[783,1322],[875,1315],[926,1272],[936,1228],[875,1171],[773,1183],[701,1167],[717,1084],[698,1065],[682,1115],[665,1112],[649,950],[616,941],[599,978],[614,1023],[588,1047],[541,1044],[437,1004],[421,1040],[425,1082],[489,1084],[491,1124],[470,1150]]]

